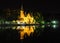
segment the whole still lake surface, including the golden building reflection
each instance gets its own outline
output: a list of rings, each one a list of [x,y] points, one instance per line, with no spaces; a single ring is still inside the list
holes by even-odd
[[[27,30],[24,30],[27,29]],[[34,29],[34,31],[30,30]],[[23,35],[20,33],[22,32]],[[31,32],[31,33],[30,33]],[[30,34],[28,34],[30,33]],[[60,39],[60,30],[58,28],[54,30],[53,28],[37,28],[35,26],[9,26],[0,27],[0,41],[2,42],[15,42],[15,43],[51,43],[51,41],[56,41]],[[22,36],[21,36],[22,35]],[[22,39],[21,39],[22,37]]]

